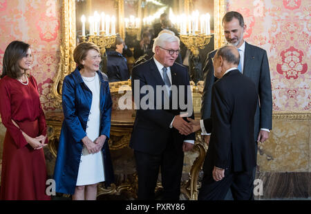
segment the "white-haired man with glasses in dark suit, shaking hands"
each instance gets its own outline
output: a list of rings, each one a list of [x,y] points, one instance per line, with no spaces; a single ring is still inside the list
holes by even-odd
[[[155,199],[159,169],[162,199],[179,200],[184,151],[194,146],[194,133],[187,135],[191,125],[180,116],[190,111],[194,118],[187,69],[175,63],[179,44],[177,36],[160,34],[153,43],[153,58],[133,67],[132,92],[138,110],[130,147],[138,171],[138,200]]]

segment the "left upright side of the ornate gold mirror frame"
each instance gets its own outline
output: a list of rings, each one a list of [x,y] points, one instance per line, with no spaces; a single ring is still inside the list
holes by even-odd
[[[62,83],[66,75],[75,69],[73,50],[75,49],[75,1],[62,0],[62,43],[60,45],[60,61],[57,73],[53,78],[52,93],[49,98],[57,109],[62,103]]]

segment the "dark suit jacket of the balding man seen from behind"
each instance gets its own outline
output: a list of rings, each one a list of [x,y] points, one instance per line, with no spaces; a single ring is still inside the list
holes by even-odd
[[[211,119],[207,119],[211,123],[205,120],[211,140],[204,171],[212,171],[214,166],[235,172],[252,171],[256,166],[256,85],[235,69],[216,81],[211,91]]]

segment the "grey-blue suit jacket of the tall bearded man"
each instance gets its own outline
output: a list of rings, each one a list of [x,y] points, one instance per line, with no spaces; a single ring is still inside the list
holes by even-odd
[[[214,67],[211,58],[216,50],[210,52],[205,61],[203,75],[205,85],[202,94],[201,118],[211,116],[211,87],[217,80],[214,76]],[[267,61],[267,52],[260,47],[249,45],[245,41],[243,74],[252,79],[256,85],[259,102],[256,108],[254,124],[254,140],[257,141],[259,129],[272,129],[272,91],[270,69]]]

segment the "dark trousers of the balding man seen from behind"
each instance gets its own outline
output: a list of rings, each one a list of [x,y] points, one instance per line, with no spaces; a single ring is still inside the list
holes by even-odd
[[[254,200],[252,173],[225,170],[225,178],[216,182],[210,171],[204,175],[198,200],[224,200],[229,189],[234,200]]]

